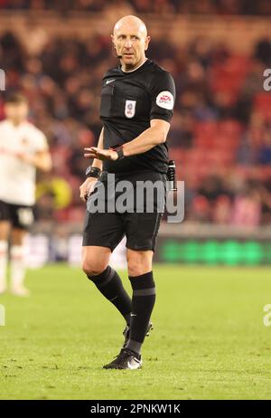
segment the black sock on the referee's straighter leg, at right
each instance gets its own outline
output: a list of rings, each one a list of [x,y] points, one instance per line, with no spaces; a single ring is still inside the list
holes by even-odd
[[[126,344],[135,353],[140,354],[145,333],[154,309],[155,283],[153,271],[140,276],[129,276],[133,288],[130,336]]]

